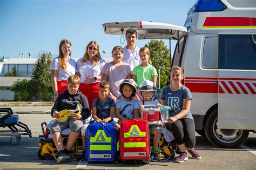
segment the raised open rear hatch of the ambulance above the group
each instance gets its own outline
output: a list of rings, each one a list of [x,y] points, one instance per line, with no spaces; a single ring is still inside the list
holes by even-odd
[[[134,29],[138,39],[175,39],[187,35],[184,26],[155,23],[150,21],[112,22],[102,24],[104,32],[110,35],[125,35],[126,30]]]

